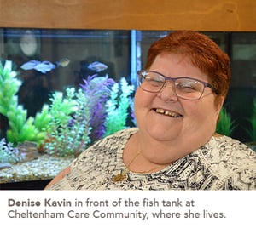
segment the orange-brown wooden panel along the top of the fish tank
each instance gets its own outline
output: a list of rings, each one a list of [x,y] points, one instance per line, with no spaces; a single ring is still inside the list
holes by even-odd
[[[0,27],[256,31],[254,0],[0,0]]]

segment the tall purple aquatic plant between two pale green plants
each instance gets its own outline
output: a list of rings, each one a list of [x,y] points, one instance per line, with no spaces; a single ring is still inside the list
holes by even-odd
[[[107,117],[106,102],[111,94],[111,87],[115,83],[108,75],[105,77],[97,77],[97,75],[89,76],[84,79],[84,84],[80,87],[84,93],[90,98],[90,139],[92,141],[100,139],[105,134],[104,122]]]

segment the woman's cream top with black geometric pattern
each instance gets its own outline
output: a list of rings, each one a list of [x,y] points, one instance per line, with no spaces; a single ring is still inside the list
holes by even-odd
[[[205,146],[154,173],[134,173],[123,163],[125,143],[137,128],[90,146],[71,173],[49,190],[256,190],[256,153],[238,140],[214,137]],[[124,175],[113,181],[117,175]]]

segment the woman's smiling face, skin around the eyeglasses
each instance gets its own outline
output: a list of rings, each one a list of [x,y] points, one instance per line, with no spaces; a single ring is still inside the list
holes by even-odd
[[[208,83],[206,74],[178,54],[158,55],[148,70],[158,71],[166,77],[194,77]],[[135,115],[140,133],[150,140],[168,141],[174,146],[189,144],[191,149],[196,149],[215,132],[223,101],[217,107],[214,99],[211,88],[205,88],[200,100],[178,98],[172,81],[168,81],[159,93],[137,88]]]

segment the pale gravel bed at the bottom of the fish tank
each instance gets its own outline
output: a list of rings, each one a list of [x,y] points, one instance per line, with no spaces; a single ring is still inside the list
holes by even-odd
[[[73,160],[73,157],[50,157],[42,155],[35,160],[26,163],[13,164],[11,168],[0,170],[0,184],[49,180],[66,168]]]

